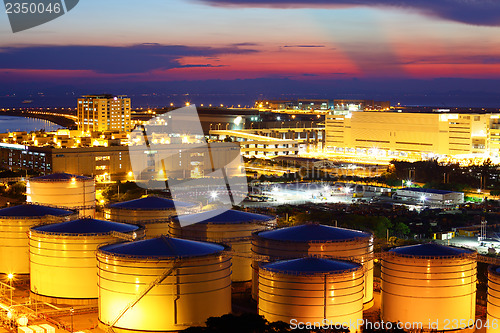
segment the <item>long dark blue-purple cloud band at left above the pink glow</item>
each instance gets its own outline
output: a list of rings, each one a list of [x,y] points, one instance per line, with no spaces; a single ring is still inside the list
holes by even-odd
[[[90,70],[105,74],[147,73],[156,69],[210,67],[181,65],[184,57],[214,57],[257,52],[238,46],[222,48],[140,44],[132,46],[0,47],[0,69]]]

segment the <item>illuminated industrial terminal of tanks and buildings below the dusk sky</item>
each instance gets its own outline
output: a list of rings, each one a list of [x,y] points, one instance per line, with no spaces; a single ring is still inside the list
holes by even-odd
[[[2,330],[500,332],[498,113],[259,100],[188,131],[131,103],[0,135]]]

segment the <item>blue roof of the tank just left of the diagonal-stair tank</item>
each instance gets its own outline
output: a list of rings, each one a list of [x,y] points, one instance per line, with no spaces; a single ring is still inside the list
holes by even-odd
[[[42,225],[32,229],[54,234],[107,234],[111,231],[131,232],[139,229],[139,227],[133,224],[103,220],[78,219],[62,223]]]

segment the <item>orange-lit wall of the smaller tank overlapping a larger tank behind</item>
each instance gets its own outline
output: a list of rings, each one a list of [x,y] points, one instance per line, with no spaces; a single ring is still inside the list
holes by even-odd
[[[273,322],[349,323],[360,332],[363,319],[363,269],[342,274],[289,275],[259,270],[259,314]]]

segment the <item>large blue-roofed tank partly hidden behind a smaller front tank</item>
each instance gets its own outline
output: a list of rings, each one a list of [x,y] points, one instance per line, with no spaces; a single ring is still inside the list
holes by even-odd
[[[253,234],[252,253],[270,260],[323,256],[354,260],[365,270],[365,308],[373,305],[373,235],[316,223]],[[252,297],[258,299],[258,264],[252,263]]]

